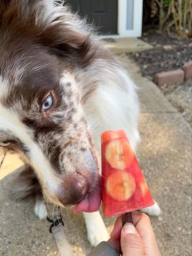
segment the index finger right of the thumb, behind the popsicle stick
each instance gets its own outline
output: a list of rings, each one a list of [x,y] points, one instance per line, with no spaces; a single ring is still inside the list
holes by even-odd
[[[145,254],[160,256],[161,254],[149,217],[145,213],[133,213],[133,223],[144,243]]]

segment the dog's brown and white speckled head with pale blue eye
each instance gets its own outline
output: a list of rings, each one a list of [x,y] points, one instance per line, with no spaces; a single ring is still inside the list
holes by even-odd
[[[51,202],[74,205],[98,180],[75,69],[89,40],[51,1],[0,0],[0,146],[22,153]]]

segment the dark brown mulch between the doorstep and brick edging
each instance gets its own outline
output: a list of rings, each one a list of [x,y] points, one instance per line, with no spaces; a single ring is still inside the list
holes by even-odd
[[[191,59],[192,42],[157,32],[144,33],[141,38],[152,50],[128,54],[140,66],[142,76],[154,81],[155,74],[182,68]]]

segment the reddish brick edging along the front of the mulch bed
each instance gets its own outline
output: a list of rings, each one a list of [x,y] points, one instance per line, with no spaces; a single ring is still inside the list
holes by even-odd
[[[192,80],[192,61],[186,62],[183,69],[175,69],[171,71],[163,71],[157,73],[155,82],[159,86],[182,84],[184,81]]]

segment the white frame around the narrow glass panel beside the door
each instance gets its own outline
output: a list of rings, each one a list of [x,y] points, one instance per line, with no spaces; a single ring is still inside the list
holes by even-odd
[[[118,0],[118,34],[120,37],[140,37],[142,35],[143,0],[134,0],[133,30],[127,30],[127,1]]]

